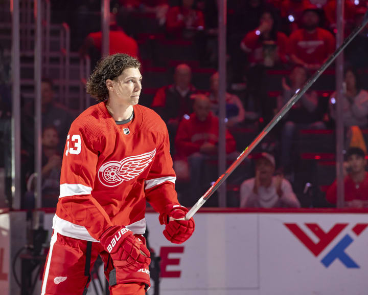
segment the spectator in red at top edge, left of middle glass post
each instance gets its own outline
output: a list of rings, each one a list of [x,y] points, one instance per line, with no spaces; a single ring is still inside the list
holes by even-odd
[[[201,11],[193,8],[194,0],[182,0],[180,6],[170,7],[167,13],[166,29],[173,37],[187,37],[185,30],[204,29],[204,17]],[[189,33],[188,37],[192,37]]]

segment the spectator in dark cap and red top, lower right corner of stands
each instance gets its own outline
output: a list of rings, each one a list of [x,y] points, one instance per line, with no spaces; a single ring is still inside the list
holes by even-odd
[[[365,171],[365,153],[359,147],[351,147],[344,165],[344,204],[346,207],[368,207],[368,173]],[[336,180],[328,188],[326,199],[336,204]]]

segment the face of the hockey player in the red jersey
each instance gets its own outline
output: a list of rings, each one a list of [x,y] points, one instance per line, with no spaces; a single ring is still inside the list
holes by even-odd
[[[113,80],[113,92],[117,98],[130,106],[138,103],[142,90],[142,75],[139,69],[125,69]]]

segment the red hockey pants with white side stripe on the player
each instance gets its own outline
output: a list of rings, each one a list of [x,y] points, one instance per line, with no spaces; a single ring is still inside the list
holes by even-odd
[[[43,271],[41,295],[86,294],[91,279],[90,269],[93,268],[98,255],[104,262],[105,276],[109,280],[111,295],[145,294],[148,284],[142,281],[113,283],[113,281],[119,281],[119,270],[114,269],[108,252],[100,243],[65,237],[54,231]],[[141,271],[139,276],[149,282],[148,269]],[[114,285],[111,286],[112,284]]]

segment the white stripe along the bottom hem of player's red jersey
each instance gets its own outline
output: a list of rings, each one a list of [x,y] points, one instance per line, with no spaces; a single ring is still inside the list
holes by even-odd
[[[146,231],[146,219],[143,218],[127,225],[126,227],[129,228],[134,234],[143,235]],[[100,243],[100,241],[89,235],[88,230],[84,226],[64,220],[58,217],[56,214],[53,218],[53,228],[60,235],[65,237]]]

